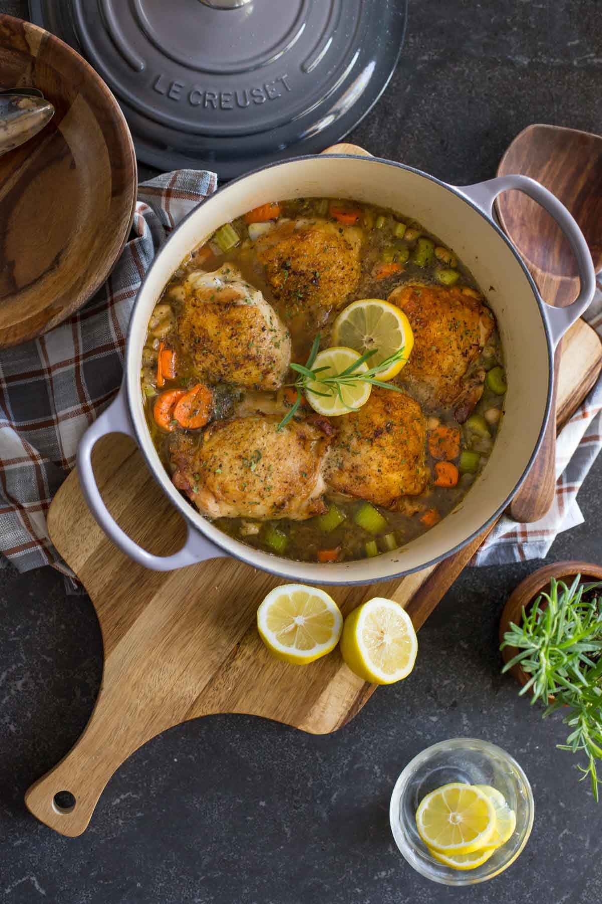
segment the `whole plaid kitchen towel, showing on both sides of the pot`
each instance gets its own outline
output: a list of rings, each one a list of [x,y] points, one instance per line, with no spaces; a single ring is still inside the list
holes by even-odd
[[[107,284],[50,333],[0,353],[0,551],[20,571],[69,569],[53,548],[46,513],[75,464],[79,439],[107,407],[122,376],[125,334],[144,273],[173,226],[208,194],[216,175],[180,170],[139,187],[132,238]],[[588,322],[602,336],[602,291]],[[502,519],[472,560],[491,565],[546,555],[583,517],[579,486],[602,446],[602,379],[563,428],[558,485],[539,523]]]

